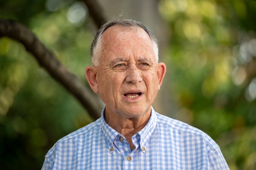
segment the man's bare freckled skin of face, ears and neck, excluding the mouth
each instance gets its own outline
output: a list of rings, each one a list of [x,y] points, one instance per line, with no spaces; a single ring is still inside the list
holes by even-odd
[[[165,64],[157,64],[153,43],[142,28],[108,28],[102,35],[102,49],[99,65],[86,67],[86,78],[106,104],[106,122],[126,137],[132,149],[132,135],[150,118]],[[129,99],[125,94],[131,92],[141,95]]]

